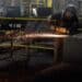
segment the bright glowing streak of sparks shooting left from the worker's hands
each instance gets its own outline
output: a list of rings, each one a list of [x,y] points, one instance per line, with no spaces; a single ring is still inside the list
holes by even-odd
[[[58,35],[58,34],[51,34],[51,33],[31,33],[31,34],[25,34],[22,36],[17,36],[15,37],[15,39],[20,40],[27,40],[30,39],[34,39],[34,38],[67,38],[69,37],[69,35]]]

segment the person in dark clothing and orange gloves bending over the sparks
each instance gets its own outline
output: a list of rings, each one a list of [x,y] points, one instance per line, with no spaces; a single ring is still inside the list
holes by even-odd
[[[74,5],[68,5],[61,13],[55,13],[50,16],[51,30],[58,34],[78,33],[79,20]]]

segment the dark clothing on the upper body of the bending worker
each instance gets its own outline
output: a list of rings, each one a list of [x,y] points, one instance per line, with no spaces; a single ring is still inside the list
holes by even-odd
[[[67,30],[69,30],[70,34],[78,33],[79,21],[75,14],[71,15],[71,17],[68,20],[67,17],[65,17],[65,14],[56,13],[51,15],[51,25],[66,27]]]

